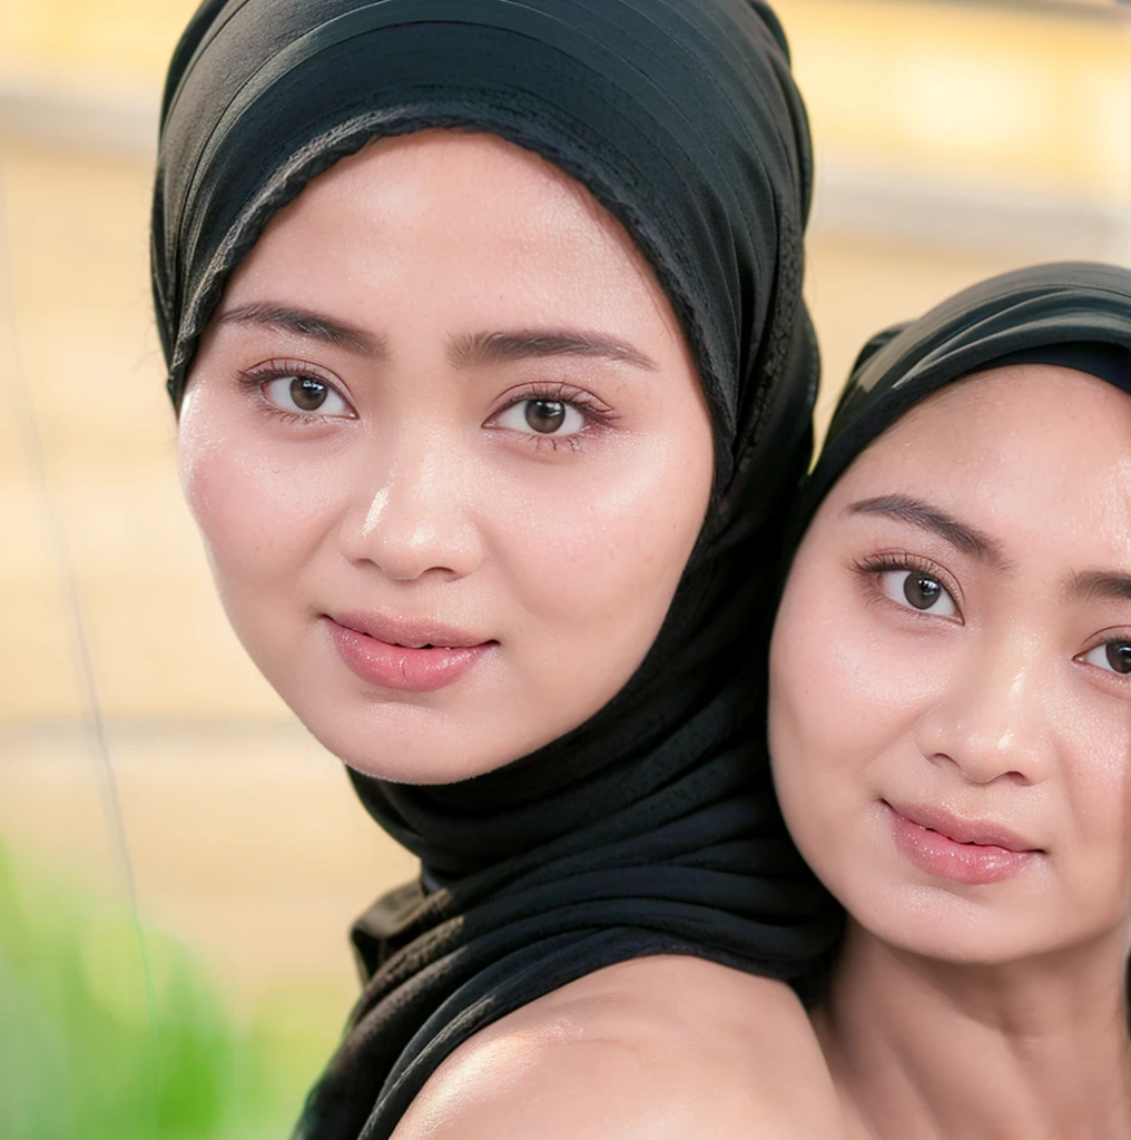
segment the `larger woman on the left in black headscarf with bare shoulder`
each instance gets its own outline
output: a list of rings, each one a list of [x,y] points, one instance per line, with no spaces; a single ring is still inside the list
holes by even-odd
[[[186,492],[249,652],[423,864],[355,930],[300,1135],[746,1135],[819,1060],[766,979],[835,922],[747,663],[808,454],[808,194],[760,2],[186,32],[153,242]]]

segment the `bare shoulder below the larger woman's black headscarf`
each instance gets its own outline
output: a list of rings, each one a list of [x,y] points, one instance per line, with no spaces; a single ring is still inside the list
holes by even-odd
[[[805,1010],[695,958],[597,970],[483,1029],[393,1140],[843,1140]]]

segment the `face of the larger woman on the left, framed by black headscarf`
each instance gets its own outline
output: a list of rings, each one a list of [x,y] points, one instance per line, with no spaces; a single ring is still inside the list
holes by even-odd
[[[485,135],[316,179],[233,275],[182,483],[228,616],[350,765],[475,775],[643,660],[701,528],[711,426],[623,229]]]

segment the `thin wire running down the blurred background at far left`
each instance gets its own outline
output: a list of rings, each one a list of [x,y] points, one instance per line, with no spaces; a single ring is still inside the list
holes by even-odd
[[[24,451],[39,491],[42,518],[46,521],[48,540],[59,576],[63,609],[67,617],[67,627],[71,634],[72,662],[74,665],[75,681],[82,706],[81,720],[90,742],[90,749],[93,752],[95,766],[99,775],[103,811],[109,821],[113,860],[117,874],[125,888],[141,960],[141,976],[146,997],[146,1020],[149,1027],[149,1043],[153,1050],[150,1080],[156,1093],[157,1075],[160,1072],[160,1043],[155,1017],[153,974],[149,969],[145,930],[141,926],[137,880],[133,876],[133,862],[130,857],[130,844],[125,831],[125,817],[122,812],[117,775],[114,771],[114,762],[106,741],[106,725],[103,719],[98,682],[95,676],[93,661],[90,654],[90,641],[87,636],[87,626],[82,617],[82,604],[79,601],[79,584],[71,557],[71,546],[67,542],[66,528],[63,524],[56,496],[51,490],[47,451],[43,447],[43,438],[40,433],[39,424],[35,422],[35,414],[32,410],[31,389],[24,374],[19,328],[16,321],[16,282],[11,263],[10,225],[7,171],[3,155],[0,153],[0,301],[3,302],[0,304],[0,309],[3,309],[8,315],[6,323],[8,325],[10,345],[8,352],[9,367],[8,369],[0,369],[0,372],[7,370],[9,376],[14,399],[9,401],[8,406],[16,409],[18,427],[23,435]],[[154,1112],[156,1112],[156,1096],[153,1097],[150,1105]]]

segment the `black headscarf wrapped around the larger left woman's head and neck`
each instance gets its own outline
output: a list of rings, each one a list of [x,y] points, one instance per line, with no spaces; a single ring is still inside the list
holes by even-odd
[[[355,928],[368,984],[299,1125],[318,1140],[388,1137],[463,1041],[601,967],[680,953],[791,979],[835,934],[765,763],[817,358],[808,132],[760,0],[208,0],[170,71],[154,202],[170,394],[271,215],[368,139],[434,127],[540,154],[625,226],[694,355],[715,492],[656,644],[589,722],[459,783],[353,774],[423,872]]]

